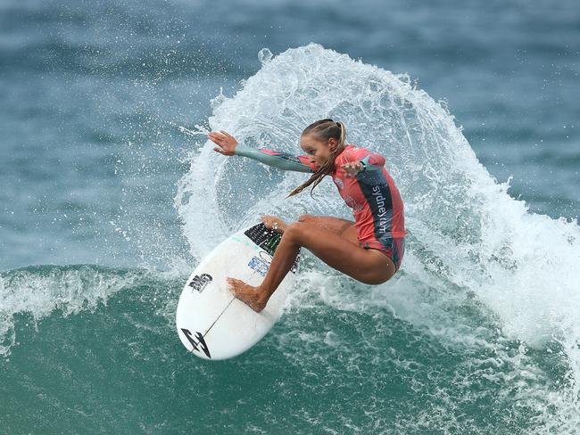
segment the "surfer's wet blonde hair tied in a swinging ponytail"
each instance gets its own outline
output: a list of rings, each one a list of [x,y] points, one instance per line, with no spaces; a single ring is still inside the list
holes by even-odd
[[[338,142],[336,148],[330,152],[327,161],[317,170],[312,176],[306,180],[302,185],[296,187],[291,193],[288,193],[286,198],[294,196],[296,193],[301,193],[304,188],[312,185],[311,196],[314,187],[319,185],[322,178],[327,176],[335,168],[336,156],[344,149],[344,141],[346,140],[346,127],[342,122],[335,122],[332,119],[319,119],[313,122],[310,126],[304,128],[302,135],[315,135],[320,141],[328,141],[334,138]]]

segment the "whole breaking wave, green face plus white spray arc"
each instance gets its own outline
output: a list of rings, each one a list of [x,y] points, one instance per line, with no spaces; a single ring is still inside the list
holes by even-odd
[[[385,155],[406,207],[402,270],[368,286],[304,252],[286,313],[241,357],[178,341],[185,276],[92,266],[0,274],[8,433],[573,433],[580,427],[576,221],[533,214],[478,162],[443,103],[404,75],[307,45],[272,56],[211,129],[297,152],[331,117]],[[194,258],[261,213],[349,217],[328,180],[191,157],[175,205]],[[203,207],[200,206],[203,205]]]

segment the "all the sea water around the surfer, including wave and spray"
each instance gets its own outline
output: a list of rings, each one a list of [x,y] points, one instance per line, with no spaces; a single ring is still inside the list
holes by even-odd
[[[573,0],[0,3],[0,434],[580,433]],[[284,315],[206,362],[195,265],[262,213],[349,217],[298,152],[332,117],[406,207],[394,279],[307,251]]]

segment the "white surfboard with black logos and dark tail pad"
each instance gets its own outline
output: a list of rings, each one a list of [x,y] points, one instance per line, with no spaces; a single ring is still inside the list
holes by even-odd
[[[221,242],[195,268],[181,292],[176,314],[179,338],[186,349],[204,359],[236,357],[269,332],[294,284],[297,261],[260,313],[234,297],[226,278],[260,284],[280,238],[281,234],[263,224],[245,228]]]

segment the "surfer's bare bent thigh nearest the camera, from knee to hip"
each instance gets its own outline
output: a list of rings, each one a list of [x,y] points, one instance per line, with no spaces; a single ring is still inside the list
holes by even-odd
[[[362,283],[385,283],[394,275],[394,267],[385,255],[377,250],[353,246],[352,242],[327,229],[294,222],[287,226],[283,237],[310,250],[328,266]]]

